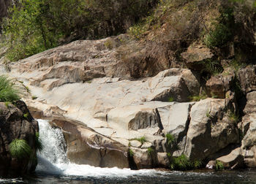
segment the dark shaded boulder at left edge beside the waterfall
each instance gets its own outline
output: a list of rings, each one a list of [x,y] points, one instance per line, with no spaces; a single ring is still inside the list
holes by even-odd
[[[17,177],[34,171],[38,131],[38,123],[23,101],[17,101],[15,105],[0,102],[0,177]],[[32,150],[30,158],[12,158],[9,145],[14,139],[26,140]]]

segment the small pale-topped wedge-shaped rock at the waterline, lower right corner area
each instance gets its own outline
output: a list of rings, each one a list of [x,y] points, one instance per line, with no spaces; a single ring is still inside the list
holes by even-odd
[[[227,156],[217,158],[217,161],[221,161],[225,168],[238,169],[244,166],[244,156],[241,147],[236,148]]]

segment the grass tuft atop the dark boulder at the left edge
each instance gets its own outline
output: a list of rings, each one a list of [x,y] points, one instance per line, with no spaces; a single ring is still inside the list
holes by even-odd
[[[16,101],[20,99],[19,91],[14,83],[4,75],[0,75],[0,101]]]

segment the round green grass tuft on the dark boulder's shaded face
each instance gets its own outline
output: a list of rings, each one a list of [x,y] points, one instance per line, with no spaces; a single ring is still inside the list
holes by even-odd
[[[30,158],[32,153],[31,147],[28,145],[26,140],[23,139],[14,139],[10,143],[9,149],[12,158]]]

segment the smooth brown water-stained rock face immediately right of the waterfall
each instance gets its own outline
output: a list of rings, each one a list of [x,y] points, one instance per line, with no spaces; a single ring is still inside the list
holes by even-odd
[[[51,120],[64,131],[67,158],[76,164],[119,168],[129,167],[127,147],[98,134],[76,120],[55,117]]]

